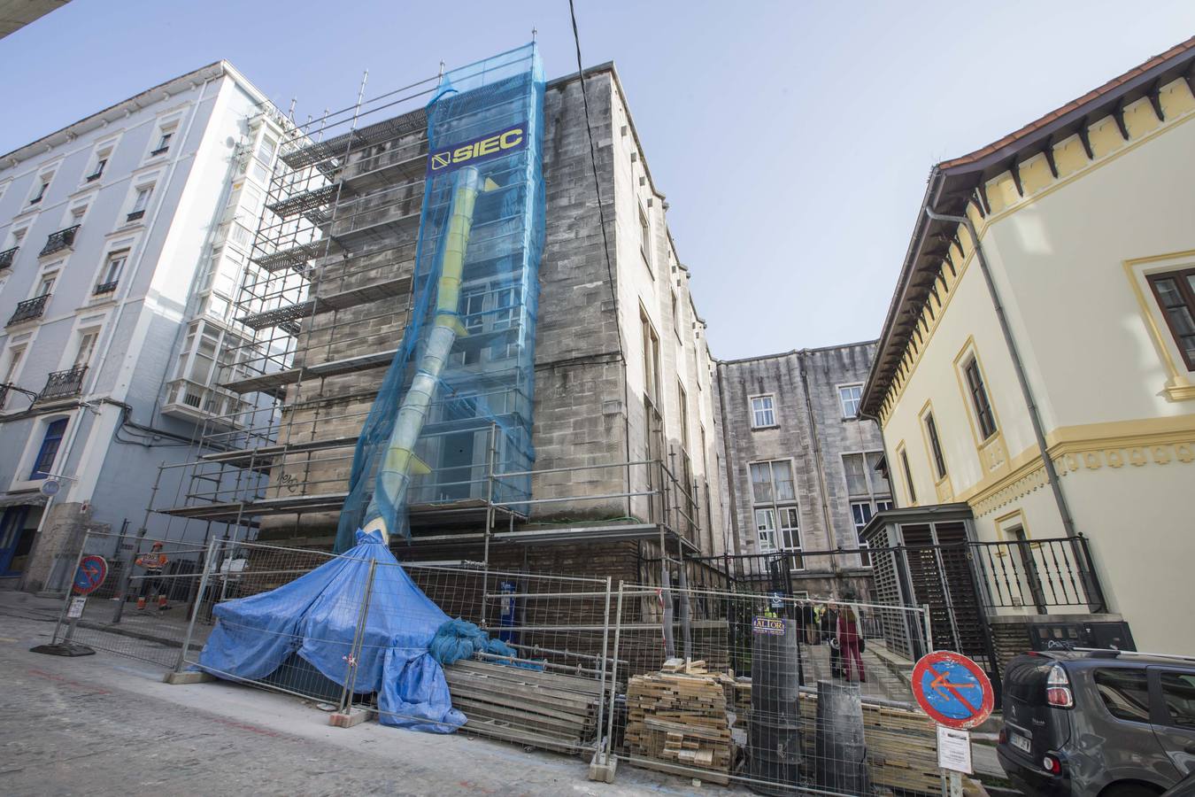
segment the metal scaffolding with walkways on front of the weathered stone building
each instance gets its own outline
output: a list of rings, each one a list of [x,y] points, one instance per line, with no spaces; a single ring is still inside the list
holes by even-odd
[[[363,80],[353,105],[293,124],[280,142],[233,313],[252,338],[234,339],[217,363],[220,390],[243,400],[204,422],[190,461],[163,466],[147,514],[206,523],[209,535],[213,523],[225,525],[226,538],[243,540],[323,546],[335,534],[354,447],[416,309],[424,106],[442,80],[441,72],[370,99]],[[474,378],[479,351],[490,350],[484,362],[514,356],[495,354],[500,348],[523,345],[511,302],[486,276],[488,240],[504,234],[502,223],[476,232],[460,309],[468,333],[453,350],[453,366]],[[527,393],[483,387],[467,403],[451,392],[433,403],[424,436],[461,456],[407,493],[423,551],[476,545],[488,563],[491,541],[546,544],[568,533],[648,540],[673,556],[697,551],[697,485],[662,445],[652,459],[535,467],[509,445],[503,421],[529,417],[529,386]],[[620,480],[618,489],[594,489]],[[584,502],[620,503],[626,516],[575,528],[527,523],[533,513]]]

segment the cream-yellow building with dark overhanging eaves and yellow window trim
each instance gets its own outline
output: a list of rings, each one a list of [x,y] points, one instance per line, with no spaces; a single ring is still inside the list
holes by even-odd
[[[918,211],[863,394],[901,509],[868,535],[929,546],[1005,652],[1195,654],[1193,88],[1195,38],[938,164]],[[933,602],[918,566],[893,589]]]

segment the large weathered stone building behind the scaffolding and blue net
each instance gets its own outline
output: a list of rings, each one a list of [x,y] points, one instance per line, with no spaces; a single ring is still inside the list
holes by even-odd
[[[502,472],[517,468],[489,427],[449,429],[447,400],[437,399],[429,428],[451,433],[437,445],[456,458],[455,477],[412,483],[415,545],[403,556],[478,560],[488,525],[490,560],[540,571],[639,578],[661,541],[673,553],[723,551],[705,323],[614,66],[587,69],[584,81],[601,210],[580,75],[550,80],[544,100],[532,433],[539,503],[490,513]],[[277,411],[252,436],[223,437],[234,450],[196,461],[185,505],[155,507],[183,523],[240,517],[241,533],[261,540],[331,545],[353,447],[415,300],[427,115],[378,116],[367,102],[351,131],[282,147],[278,190],[266,202],[276,217],[263,220],[256,244],[268,275],[243,293],[239,318],[283,354],[225,382],[252,401],[276,398]],[[492,319],[507,319],[484,277],[466,268],[461,290],[471,336],[452,356],[484,369],[516,344],[498,336]],[[484,343],[500,339],[501,349]],[[250,470],[268,483],[235,476]]]

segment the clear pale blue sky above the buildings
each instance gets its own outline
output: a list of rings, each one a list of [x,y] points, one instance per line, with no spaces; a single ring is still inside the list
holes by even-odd
[[[716,357],[880,335],[933,164],[1195,35],[1195,2],[575,0],[614,61]],[[227,59],[295,118],[527,42],[568,0],[73,0],[0,39],[0,153]]]

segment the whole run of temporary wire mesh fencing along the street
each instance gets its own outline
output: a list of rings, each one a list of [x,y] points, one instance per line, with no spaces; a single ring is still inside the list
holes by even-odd
[[[127,566],[81,612],[80,601],[67,597],[55,642],[69,638],[166,669],[196,669],[221,603],[348,559],[219,539],[161,542],[154,548],[145,538],[88,535],[80,560],[98,554]],[[166,564],[149,571],[136,565],[146,551],[160,552]],[[884,645],[885,629],[899,626],[932,650],[927,613],[919,607],[612,584],[607,577],[496,572],[470,563],[370,562],[353,569],[363,575],[342,584],[336,605],[325,607],[345,629],[318,640],[344,662],[336,678],[304,657],[311,639],[302,627],[271,632],[286,636],[290,652],[259,678],[206,669],[341,715],[425,719],[417,709],[406,713],[400,701],[386,705],[357,680],[394,644],[367,627],[380,613],[402,625],[404,613],[416,611],[387,597],[396,574],[386,568],[402,568],[449,618],[476,624],[515,651],[478,651],[443,667],[452,706],[466,719],[460,732],[762,793],[940,792],[934,724],[912,703],[903,660]]]

